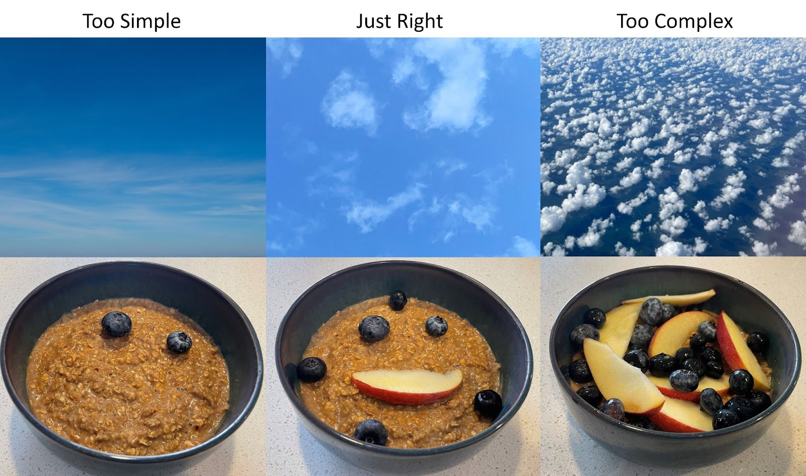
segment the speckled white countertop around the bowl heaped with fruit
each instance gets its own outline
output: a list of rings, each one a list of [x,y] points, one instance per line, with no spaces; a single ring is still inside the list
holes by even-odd
[[[567,412],[550,368],[548,336],[559,311],[576,292],[596,279],[634,267],[659,264],[702,267],[719,271],[750,284],[783,311],[800,336],[806,338],[804,283],[806,259],[802,258],[544,258],[541,262],[541,336],[539,390],[543,474],[697,474],[748,476],[806,474],[806,383],[803,375],[767,433],[750,449],[726,462],[699,470],[655,470],[613,456],[596,445]],[[533,337],[534,341],[534,337]]]

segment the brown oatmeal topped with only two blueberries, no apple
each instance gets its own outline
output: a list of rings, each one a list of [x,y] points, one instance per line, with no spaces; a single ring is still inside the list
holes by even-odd
[[[119,311],[131,332],[110,337],[102,318]],[[166,347],[169,333],[190,350]],[[95,301],[39,337],[27,366],[31,412],[62,437],[107,453],[172,453],[212,437],[228,408],[229,374],[218,346],[195,322],[147,299]]]

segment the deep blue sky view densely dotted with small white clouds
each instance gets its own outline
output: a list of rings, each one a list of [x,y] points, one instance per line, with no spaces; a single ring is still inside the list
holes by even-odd
[[[541,85],[542,254],[806,254],[806,39],[546,39]]]

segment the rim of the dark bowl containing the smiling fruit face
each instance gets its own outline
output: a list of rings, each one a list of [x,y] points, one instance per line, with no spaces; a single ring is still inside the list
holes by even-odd
[[[288,379],[285,378],[285,369],[282,366],[281,358],[280,358],[280,346],[281,346],[281,337],[285,333],[285,326],[288,324],[289,318],[291,317],[292,311],[297,308],[297,305],[307,298],[307,296],[314,291],[314,289],[318,288],[326,281],[330,279],[335,279],[340,275],[345,275],[347,273],[351,273],[354,271],[360,271],[366,268],[371,267],[386,267],[390,265],[404,265],[410,267],[424,267],[430,268],[435,271],[439,271],[442,273],[447,273],[449,275],[455,275],[460,279],[465,279],[471,284],[475,285],[479,288],[482,292],[488,293],[489,296],[492,297],[493,300],[496,301],[502,308],[505,309],[509,316],[513,318],[513,322],[520,332],[520,335],[526,344],[526,379],[523,382],[523,391],[521,391],[517,398],[515,399],[512,407],[510,407],[503,415],[498,416],[495,421],[488,428],[484,428],[480,433],[476,433],[476,435],[464,439],[462,441],[457,441],[455,443],[451,443],[450,445],[442,445],[442,446],[435,446],[433,448],[417,448],[417,449],[404,449],[404,448],[390,448],[387,446],[380,446],[380,445],[373,445],[371,443],[367,443],[365,441],[356,440],[353,437],[350,437],[344,433],[339,433],[338,431],[330,428],[327,424],[325,424],[322,420],[319,420],[310,410],[305,407],[305,404],[301,402],[301,399],[297,397],[296,392],[293,391],[293,388],[289,384]],[[486,340],[486,339],[485,339]],[[438,454],[444,453],[451,453],[454,451],[458,451],[459,449],[463,449],[467,446],[473,445],[479,441],[484,440],[484,438],[492,436],[492,434],[496,433],[500,430],[504,424],[506,424],[512,417],[515,415],[517,410],[521,408],[521,404],[523,404],[524,400],[526,399],[526,395],[529,394],[531,383],[532,383],[532,372],[534,367],[533,358],[534,355],[532,353],[532,347],[529,341],[529,336],[526,334],[526,329],[523,328],[521,325],[521,321],[517,318],[513,310],[509,308],[509,306],[501,300],[501,298],[496,295],[495,292],[492,292],[489,288],[481,284],[476,279],[471,278],[468,275],[465,275],[459,271],[455,271],[449,267],[439,266],[437,264],[426,263],[422,261],[413,261],[413,260],[405,260],[405,259],[384,259],[381,261],[372,261],[368,263],[359,263],[353,265],[351,267],[343,268],[339,271],[335,271],[326,277],[319,279],[316,283],[311,285],[309,288],[302,292],[302,294],[297,297],[297,300],[294,300],[293,304],[288,311],[286,311],[285,316],[283,317],[282,321],[280,321],[280,325],[277,328],[277,336],[275,341],[275,364],[277,368],[277,374],[280,379],[280,384],[285,391],[285,395],[289,398],[297,413],[301,416],[305,416],[305,419],[308,420],[311,424],[314,424],[319,430],[326,433],[331,438],[334,438],[337,441],[342,441],[343,444],[351,445],[354,448],[363,449],[365,451],[371,453],[378,453],[384,456],[395,456],[395,457],[423,457],[423,456],[434,456]]]

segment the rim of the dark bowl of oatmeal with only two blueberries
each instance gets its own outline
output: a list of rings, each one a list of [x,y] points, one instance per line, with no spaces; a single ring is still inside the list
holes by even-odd
[[[209,440],[203,441],[199,445],[195,445],[188,449],[183,449],[181,451],[177,451],[174,453],[165,453],[165,454],[156,454],[150,456],[127,456],[125,454],[116,454],[116,453],[106,453],[105,451],[99,451],[98,449],[91,449],[83,445],[79,445],[73,441],[68,440],[67,438],[61,437],[58,433],[54,432],[52,429],[48,428],[45,424],[39,421],[33,413],[31,413],[28,408],[25,407],[23,402],[19,399],[17,392],[15,391],[14,387],[11,384],[10,376],[8,375],[8,369],[6,366],[6,337],[8,335],[8,331],[10,329],[11,323],[15,321],[19,311],[23,308],[23,305],[27,304],[28,300],[30,300],[33,296],[38,294],[42,291],[42,289],[50,286],[54,282],[58,281],[59,279],[63,278],[66,275],[71,275],[73,273],[86,271],[88,269],[92,269],[95,267],[109,267],[109,266],[118,266],[123,264],[124,266],[137,266],[137,267],[156,267],[161,268],[164,271],[169,271],[172,273],[176,273],[179,275],[184,275],[189,279],[195,279],[201,284],[204,284],[210,291],[218,294],[218,296],[222,297],[223,300],[226,301],[232,308],[235,309],[236,314],[243,320],[243,323],[246,325],[249,335],[251,337],[251,341],[255,345],[256,350],[256,357],[257,357],[257,375],[256,375],[256,385],[255,389],[252,391],[246,407],[235,417],[235,420],[232,421],[231,424],[226,425],[218,433],[214,434],[213,437],[210,437]],[[97,263],[88,263],[81,265],[79,267],[74,267],[67,271],[63,271],[58,275],[52,276],[51,278],[44,281],[44,283],[39,284],[33,291],[29,292],[23,300],[17,304],[17,307],[11,313],[8,322],[6,323],[6,329],[3,330],[2,334],[2,341],[0,341],[0,369],[2,369],[2,379],[3,382],[6,384],[6,391],[10,395],[11,400],[14,402],[15,406],[19,410],[20,413],[23,414],[25,419],[27,420],[28,424],[31,424],[33,427],[39,430],[39,433],[44,434],[50,440],[54,441],[57,445],[60,445],[64,449],[68,449],[72,453],[80,453],[81,455],[93,457],[98,460],[102,460],[105,462],[115,462],[115,463],[123,463],[123,464],[143,464],[143,463],[160,463],[160,462],[176,462],[186,457],[193,456],[197,453],[204,453],[208,449],[212,449],[214,446],[218,445],[222,441],[226,440],[232,433],[235,432],[236,429],[239,428],[243,421],[246,420],[247,416],[251,412],[252,408],[255,407],[257,403],[257,399],[260,396],[260,390],[263,387],[263,375],[264,375],[264,368],[263,368],[263,354],[260,350],[260,341],[257,338],[257,334],[255,333],[255,329],[251,325],[251,321],[247,317],[246,313],[243,312],[243,309],[240,308],[238,304],[235,303],[234,300],[230,296],[227,296],[225,292],[223,292],[218,287],[210,284],[205,279],[198,277],[197,275],[193,275],[188,271],[183,271],[177,267],[168,266],[165,264],[160,263],[152,263],[148,261],[136,261],[136,260],[111,260],[111,261],[101,261]]]

